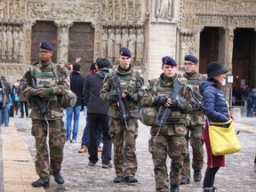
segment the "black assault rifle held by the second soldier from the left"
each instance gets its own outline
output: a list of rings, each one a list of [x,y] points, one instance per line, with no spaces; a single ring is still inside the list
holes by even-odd
[[[129,110],[129,105],[128,105],[127,99],[122,98],[122,92],[120,90],[120,80],[119,80],[118,76],[115,76],[115,78],[112,80],[111,84],[114,87],[114,90],[116,91],[116,97],[117,97],[117,101],[119,103],[121,117],[124,120],[125,130],[127,130],[128,129],[127,119],[129,119],[131,115],[130,115],[130,110]]]

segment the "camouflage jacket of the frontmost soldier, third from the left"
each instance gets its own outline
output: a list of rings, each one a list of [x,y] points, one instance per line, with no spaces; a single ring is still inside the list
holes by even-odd
[[[195,105],[192,98],[192,92],[187,89],[187,80],[185,78],[176,77],[172,81],[164,81],[164,74],[162,74],[158,79],[153,79],[148,84],[143,97],[140,100],[142,108],[156,108],[157,113],[159,107],[154,103],[157,96],[167,96],[171,98],[173,83],[175,81],[180,81],[184,87],[180,90],[179,100],[182,102],[184,108],[172,108],[171,115],[167,119],[167,123],[161,128],[159,135],[185,135],[188,132],[187,126],[190,124],[189,113],[193,110]],[[165,107],[164,107],[165,108]],[[163,111],[162,111],[163,112]],[[151,135],[156,135],[159,127],[153,125],[150,129]]]

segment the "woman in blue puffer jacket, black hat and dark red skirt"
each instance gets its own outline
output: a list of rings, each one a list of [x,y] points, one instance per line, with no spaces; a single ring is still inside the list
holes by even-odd
[[[199,85],[200,93],[204,98],[204,111],[207,123],[204,127],[204,142],[207,151],[207,169],[204,173],[204,192],[215,191],[213,187],[215,174],[221,166],[225,166],[225,156],[213,156],[209,137],[209,123],[225,123],[230,120],[228,106],[221,84],[226,78],[227,69],[219,62],[211,62],[207,65],[207,81]]]

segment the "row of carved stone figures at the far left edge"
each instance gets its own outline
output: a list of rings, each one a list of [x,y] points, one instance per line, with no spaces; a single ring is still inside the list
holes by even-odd
[[[0,61],[21,62],[24,45],[22,26],[0,25]]]

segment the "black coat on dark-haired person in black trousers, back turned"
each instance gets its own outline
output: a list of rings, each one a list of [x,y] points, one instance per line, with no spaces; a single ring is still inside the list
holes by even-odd
[[[85,102],[87,114],[108,115],[108,103],[100,98],[100,89],[103,85],[103,79],[106,71],[101,68],[95,75],[90,75],[86,79]]]

